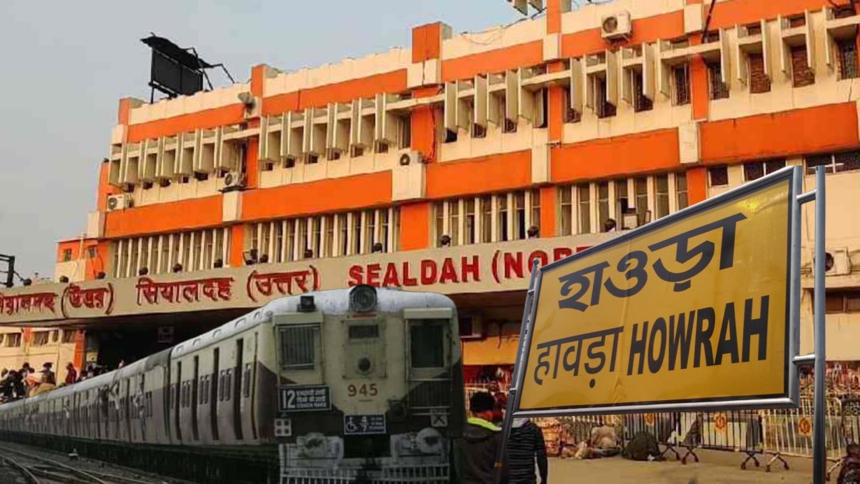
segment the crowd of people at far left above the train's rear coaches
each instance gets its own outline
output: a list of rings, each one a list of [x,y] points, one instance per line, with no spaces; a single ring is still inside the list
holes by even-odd
[[[120,368],[122,367],[120,363]],[[40,371],[36,371],[29,363],[24,363],[21,368],[15,370],[3,369],[0,371],[0,402],[20,400],[28,396],[40,395],[42,393],[83,382],[89,378],[98,377],[108,371],[107,366],[88,364],[82,371],[77,371],[71,363],[65,365],[66,374],[62,382],[57,382],[57,374],[53,371],[53,364],[46,362]]]

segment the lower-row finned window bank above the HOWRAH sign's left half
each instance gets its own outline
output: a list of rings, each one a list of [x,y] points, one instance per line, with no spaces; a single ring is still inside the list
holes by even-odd
[[[559,236],[602,232],[610,218],[617,229],[634,229],[690,203],[685,173],[559,187],[557,199]]]

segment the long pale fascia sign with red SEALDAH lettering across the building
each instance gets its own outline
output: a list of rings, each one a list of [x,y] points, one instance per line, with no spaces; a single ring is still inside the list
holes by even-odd
[[[530,239],[3,289],[0,324],[256,308],[279,297],[359,284],[443,294],[523,290],[528,284],[530,260],[549,264],[614,235]]]

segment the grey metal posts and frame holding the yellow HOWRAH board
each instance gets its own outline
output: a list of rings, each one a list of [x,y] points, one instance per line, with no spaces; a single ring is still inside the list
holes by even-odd
[[[796,407],[800,398],[800,388],[798,385],[798,366],[814,364],[814,483],[823,484],[825,481],[826,472],[826,437],[825,437],[825,366],[826,366],[826,328],[824,317],[825,305],[825,267],[824,264],[814,264],[814,354],[803,355],[800,353],[800,300],[801,300],[801,222],[802,222],[802,205],[814,201],[815,203],[815,240],[814,240],[814,260],[825,259],[825,169],[824,167],[816,168],[816,189],[808,193],[802,193],[803,174],[802,167],[787,167],[777,171],[777,173],[765,177],[774,177],[778,175],[786,176],[791,172],[789,178],[789,199],[790,199],[790,224],[791,230],[789,233],[789,310],[787,316],[787,324],[789,324],[789,342],[787,349],[789,351],[790,363],[786,371],[789,374],[789,389],[788,398],[780,400],[766,401],[771,406],[774,404],[783,405],[784,407]],[[762,182],[765,182],[763,180]],[[750,183],[744,187],[738,187],[728,193],[740,194],[748,193],[757,189],[762,183]],[[725,195],[728,195],[724,194]],[[712,202],[713,204],[720,203],[721,196]],[[709,200],[704,201],[703,205],[697,207],[703,210],[707,206],[712,205]],[[696,205],[693,205],[695,207]],[[690,211],[688,207],[684,211]],[[638,232],[640,229],[634,230]],[[603,245],[603,244],[600,244]],[[592,252],[592,249],[587,249],[584,252]],[[559,261],[561,262],[561,261]],[[496,459],[493,470],[493,484],[501,482],[502,467],[506,458],[507,439],[510,436],[513,426],[513,418],[528,418],[539,416],[562,416],[569,414],[606,414],[607,408],[599,408],[599,412],[589,412],[587,408],[581,409],[559,409],[550,411],[525,411],[519,412],[519,402],[521,400],[522,386],[525,380],[525,366],[529,358],[529,350],[531,348],[531,334],[533,333],[532,323],[534,322],[535,312],[537,310],[537,294],[540,292],[542,273],[537,271],[539,261],[534,260],[531,268],[531,279],[529,281],[529,289],[526,293],[525,308],[523,310],[523,321],[519,334],[519,350],[518,358],[514,365],[514,379],[511,385],[508,396],[507,412],[501,427],[501,443],[496,452]],[[555,266],[556,263],[550,264]],[[546,267],[544,267],[545,269]],[[742,401],[739,404],[732,405],[731,409],[750,408],[756,409],[765,401],[748,400]],[[644,407],[618,407],[614,410],[618,414],[630,414],[641,411],[660,412],[663,407],[660,404]],[[677,408],[678,405],[667,405],[666,407]],[[696,411],[697,407],[713,408],[713,404],[697,405],[696,403],[685,403],[682,405],[688,411]],[[667,408],[668,410],[668,408]]]

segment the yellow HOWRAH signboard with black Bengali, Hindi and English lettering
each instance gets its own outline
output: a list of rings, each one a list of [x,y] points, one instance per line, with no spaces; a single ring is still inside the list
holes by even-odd
[[[797,175],[542,268],[518,410],[786,406]]]

